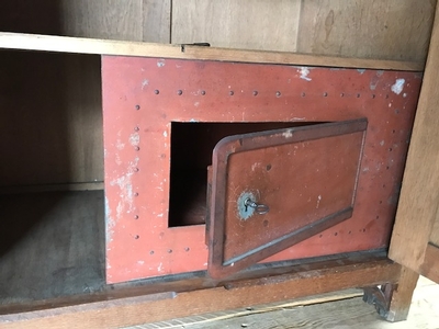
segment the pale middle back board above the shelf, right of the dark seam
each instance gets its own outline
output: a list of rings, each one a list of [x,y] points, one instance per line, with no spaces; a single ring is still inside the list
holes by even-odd
[[[295,52],[300,7],[300,0],[173,1],[171,41]]]

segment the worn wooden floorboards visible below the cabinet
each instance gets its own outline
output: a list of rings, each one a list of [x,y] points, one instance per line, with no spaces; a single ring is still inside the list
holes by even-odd
[[[311,298],[263,305],[127,327],[126,329],[286,329],[286,328],[358,328],[358,329],[437,329],[439,328],[439,285],[420,277],[406,321],[382,320],[373,306],[364,304],[361,291],[350,290]]]

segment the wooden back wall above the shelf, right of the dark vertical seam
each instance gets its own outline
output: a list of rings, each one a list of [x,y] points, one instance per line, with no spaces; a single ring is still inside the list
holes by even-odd
[[[424,61],[435,0],[172,2],[172,43]]]

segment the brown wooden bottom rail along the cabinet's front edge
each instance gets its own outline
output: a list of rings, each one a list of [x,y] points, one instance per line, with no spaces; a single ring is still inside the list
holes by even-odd
[[[219,309],[233,309],[273,303],[319,293],[327,293],[383,282],[396,282],[401,266],[386,260],[376,262],[339,265],[320,271],[301,272],[288,281],[277,277],[262,285],[241,286],[225,290],[205,288],[178,293],[173,298],[158,298],[116,305],[106,303],[95,307],[93,303],[83,305],[81,311],[74,308],[55,308],[0,316],[0,326],[10,328],[70,328],[80,322],[90,328],[115,328],[151,321],[172,319],[188,315],[204,314]]]

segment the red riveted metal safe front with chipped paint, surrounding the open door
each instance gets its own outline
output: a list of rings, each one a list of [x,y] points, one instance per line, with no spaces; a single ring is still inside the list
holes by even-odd
[[[108,282],[206,269],[204,225],[168,227],[171,122],[368,117],[353,216],[268,261],[386,247],[420,82],[415,72],[104,56]]]

